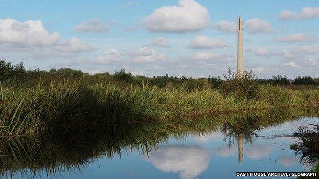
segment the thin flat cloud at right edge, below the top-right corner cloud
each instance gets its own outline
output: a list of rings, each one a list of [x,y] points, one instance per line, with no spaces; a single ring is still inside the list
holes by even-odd
[[[291,34],[287,37],[278,37],[275,39],[277,42],[295,43],[295,42],[314,42],[317,37],[310,34]]]

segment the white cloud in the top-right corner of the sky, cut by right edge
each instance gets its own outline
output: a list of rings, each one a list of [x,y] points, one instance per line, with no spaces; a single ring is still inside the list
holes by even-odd
[[[319,7],[302,7],[301,12],[297,13],[290,10],[283,10],[279,14],[279,18],[282,20],[291,19],[310,19],[319,17]]]

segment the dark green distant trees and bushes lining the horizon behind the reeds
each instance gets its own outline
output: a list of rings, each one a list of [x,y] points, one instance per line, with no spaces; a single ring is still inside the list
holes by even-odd
[[[21,63],[13,65],[11,62],[6,62],[6,60],[0,60],[0,82],[12,82],[12,81],[19,81],[19,80],[28,80],[28,79],[60,79],[60,78],[67,78],[67,79],[78,79],[78,78],[86,78],[86,77],[94,77],[95,79],[101,80],[116,80],[122,81],[126,83],[132,84],[139,84],[141,80],[148,81],[148,83],[161,86],[167,86],[169,82],[176,84],[176,83],[183,83],[185,81],[193,81],[196,82],[198,80],[208,81],[213,88],[220,87],[224,80],[220,78],[220,76],[208,78],[198,78],[193,79],[191,77],[177,77],[177,76],[169,76],[166,74],[165,76],[153,76],[153,77],[146,77],[146,76],[133,76],[130,72],[126,72],[125,69],[121,69],[113,74],[108,72],[105,73],[97,73],[90,75],[88,73],[84,73],[81,70],[74,70],[70,68],[60,68],[60,69],[50,69],[49,71],[46,70],[26,70]],[[270,85],[319,85],[319,78],[312,78],[311,76],[297,76],[295,79],[288,79],[287,76],[281,75],[274,75],[272,79],[257,79],[258,83],[260,84],[270,84]],[[194,83],[196,84],[196,83]]]

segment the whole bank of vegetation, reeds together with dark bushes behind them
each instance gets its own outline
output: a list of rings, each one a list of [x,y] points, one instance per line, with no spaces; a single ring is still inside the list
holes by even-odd
[[[1,61],[0,136],[54,134],[87,126],[195,119],[220,113],[316,108],[319,90],[261,84],[249,72],[220,78],[147,78],[124,69],[89,75],[25,70]]]

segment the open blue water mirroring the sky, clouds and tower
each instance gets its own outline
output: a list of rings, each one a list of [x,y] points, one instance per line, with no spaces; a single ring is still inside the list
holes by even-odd
[[[65,167],[64,162],[62,169],[60,167],[54,172],[42,171],[34,174],[28,169],[23,173],[15,170],[13,175],[6,177],[191,179],[236,178],[235,172],[247,171],[308,171],[310,166],[300,163],[299,156],[294,155],[289,145],[298,140],[292,134],[299,126],[317,122],[317,117],[301,117],[260,127],[250,131],[248,135],[230,134],[225,130],[168,135],[165,140],[160,139],[155,144],[149,144],[153,147],[147,152],[139,147],[123,147],[111,158],[100,152],[74,168]],[[139,143],[135,146],[139,146]]]

